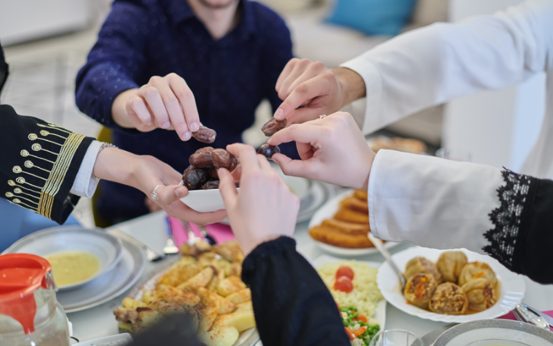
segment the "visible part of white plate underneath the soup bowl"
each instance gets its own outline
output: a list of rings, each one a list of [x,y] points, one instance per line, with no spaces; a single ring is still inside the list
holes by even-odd
[[[62,304],[66,313],[90,309],[118,297],[140,278],[146,255],[134,244],[122,239],[123,255],[113,271],[97,277],[79,289],[58,292],[57,301]]]

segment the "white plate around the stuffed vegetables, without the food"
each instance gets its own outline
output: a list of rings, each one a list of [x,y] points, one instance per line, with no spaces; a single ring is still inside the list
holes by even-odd
[[[424,257],[427,260],[432,262],[438,261],[438,258],[446,250],[435,250],[433,248],[421,248],[414,247],[408,248],[404,251],[400,251],[395,255],[392,255],[392,259],[395,264],[400,268],[400,270],[405,269],[407,262],[412,260],[415,257]],[[388,300],[390,304],[401,311],[409,313],[409,315],[417,316],[424,318],[426,320],[440,321],[440,322],[471,322],[474,320],[483,320],[485,318],[496,318],[499,316],[505,315],[514,307],[516,304],[519,304],[523,298],[526,291],[526,284],[521,277],[521,275],[515,274],[509,269],[505,268],[497,260],[486,255],[480,255],[479,253],[473,253],[466,249],[454,250],[462,251],[467,255],[469,262],[484,262],[489,264],[491,268],[497,275],[498,280],[501,282],[501,295],[498,299],[498,302],[494,304],[493,307],[481,311],[478,313],[473,313],[471,315],[461,315],[461,316],[451,316],[451,315],[442,315],[441,313],[433,313],[424,309],[415,307],[412,304],[407,304],[406,299],[404,298],[400,282],[397,279],[397,275],[392,270],[391,266],[387,263],[382,264],[378,270],[377,283],[378,288],[384,295],[384,298]]]

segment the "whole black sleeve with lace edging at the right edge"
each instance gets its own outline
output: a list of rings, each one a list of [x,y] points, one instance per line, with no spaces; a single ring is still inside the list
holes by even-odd
[[[500,206],[490,213],[495,228],[483,250],[515,273],[553,284],[553,181],[503,170]]]

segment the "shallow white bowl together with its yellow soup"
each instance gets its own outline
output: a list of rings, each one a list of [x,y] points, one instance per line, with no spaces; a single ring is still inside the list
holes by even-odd
[[[103,230],[59,226],[31,233],[4,253],[32,253],[46,258],[59,291],[69,291],[115,268],[122,249],[121,239]]]

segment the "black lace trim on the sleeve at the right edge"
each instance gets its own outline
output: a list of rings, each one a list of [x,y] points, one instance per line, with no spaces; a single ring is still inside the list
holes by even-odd
[[[485,233],[490,244],[482,248],[515,273],[522,273],[525,239],[536,187],[540,179],[516,174],[503,167],[505,185],[497,189],[501,205],[489,213],[495,228]]]

